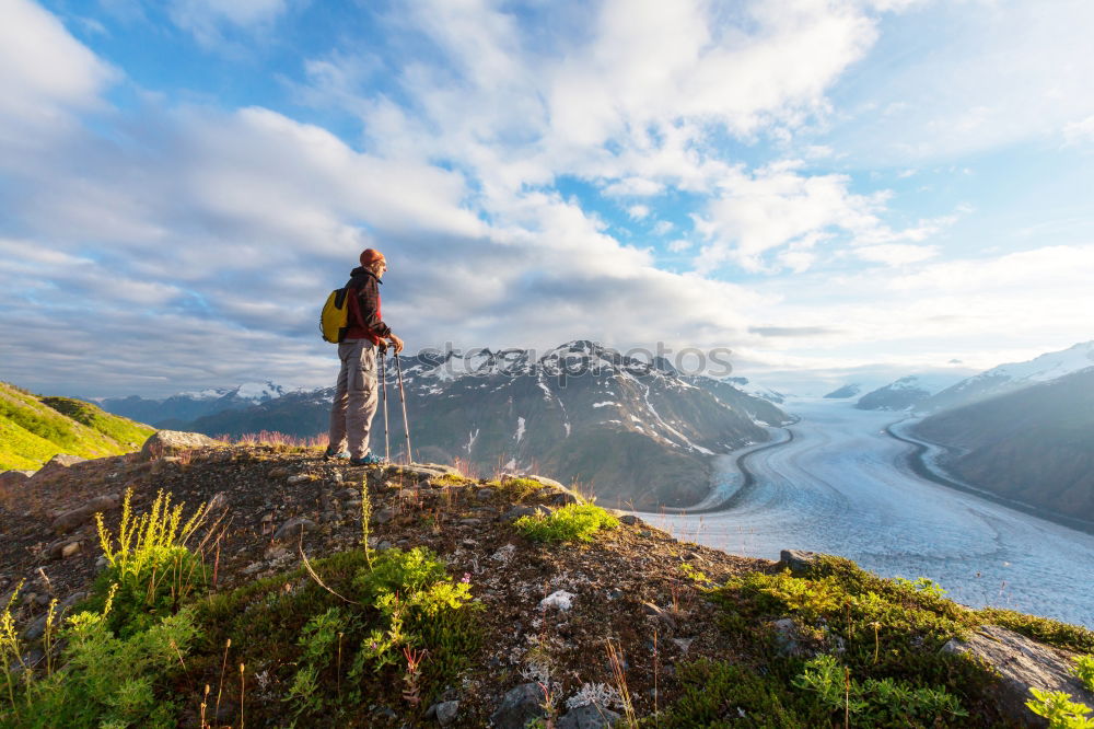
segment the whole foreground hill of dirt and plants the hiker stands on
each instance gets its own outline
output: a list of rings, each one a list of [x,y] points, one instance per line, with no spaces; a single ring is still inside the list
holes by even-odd
[[[1032,718],[1031,685],[1094,703],[1068,674],[1094,650],[1080,627],[969,610],[836,557],[736,557],[622,513],[545,541],[533,526],[574,513],[561,485],[317,453],[109,458],[0,498],[7,645],[32,672],[0,692],[0,726],[1012,727]],[[118,572],[96,564],[83,507],[102,504],[116,531],[123,485],[137,514],[160,490],[184,518],[213,505],[166,602],[140,581],[115,594]],[[94,612],[51,640],[53,599]],[[1003,680],[967,653],[980,632],[1021,649],[998,659]],[[1027,671],[1014,684],[1013,666]]]

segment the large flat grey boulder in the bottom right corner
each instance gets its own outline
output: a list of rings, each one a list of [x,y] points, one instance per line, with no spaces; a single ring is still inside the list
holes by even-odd
[[[1044,726],[1044,719],[1034,715],[1025,703],[1032,698],[1031,688],[1062,691],[1072,701],[1094,706],[1091,692],[1072,674],[1074,655],[1037,643],[1033,638],[998,625],[984,625],[968,640],[954,638],[942,647],[943,652],[965,653],[987,661],[999,672],[997,688],[1002,707],[1027,722]]]

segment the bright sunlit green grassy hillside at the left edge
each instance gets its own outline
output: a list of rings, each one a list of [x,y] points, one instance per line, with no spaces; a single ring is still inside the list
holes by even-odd
[[[39,397],[0,382],[0,471],[37,468],[58,453],[136,450],[154,430],[71,397]]]

